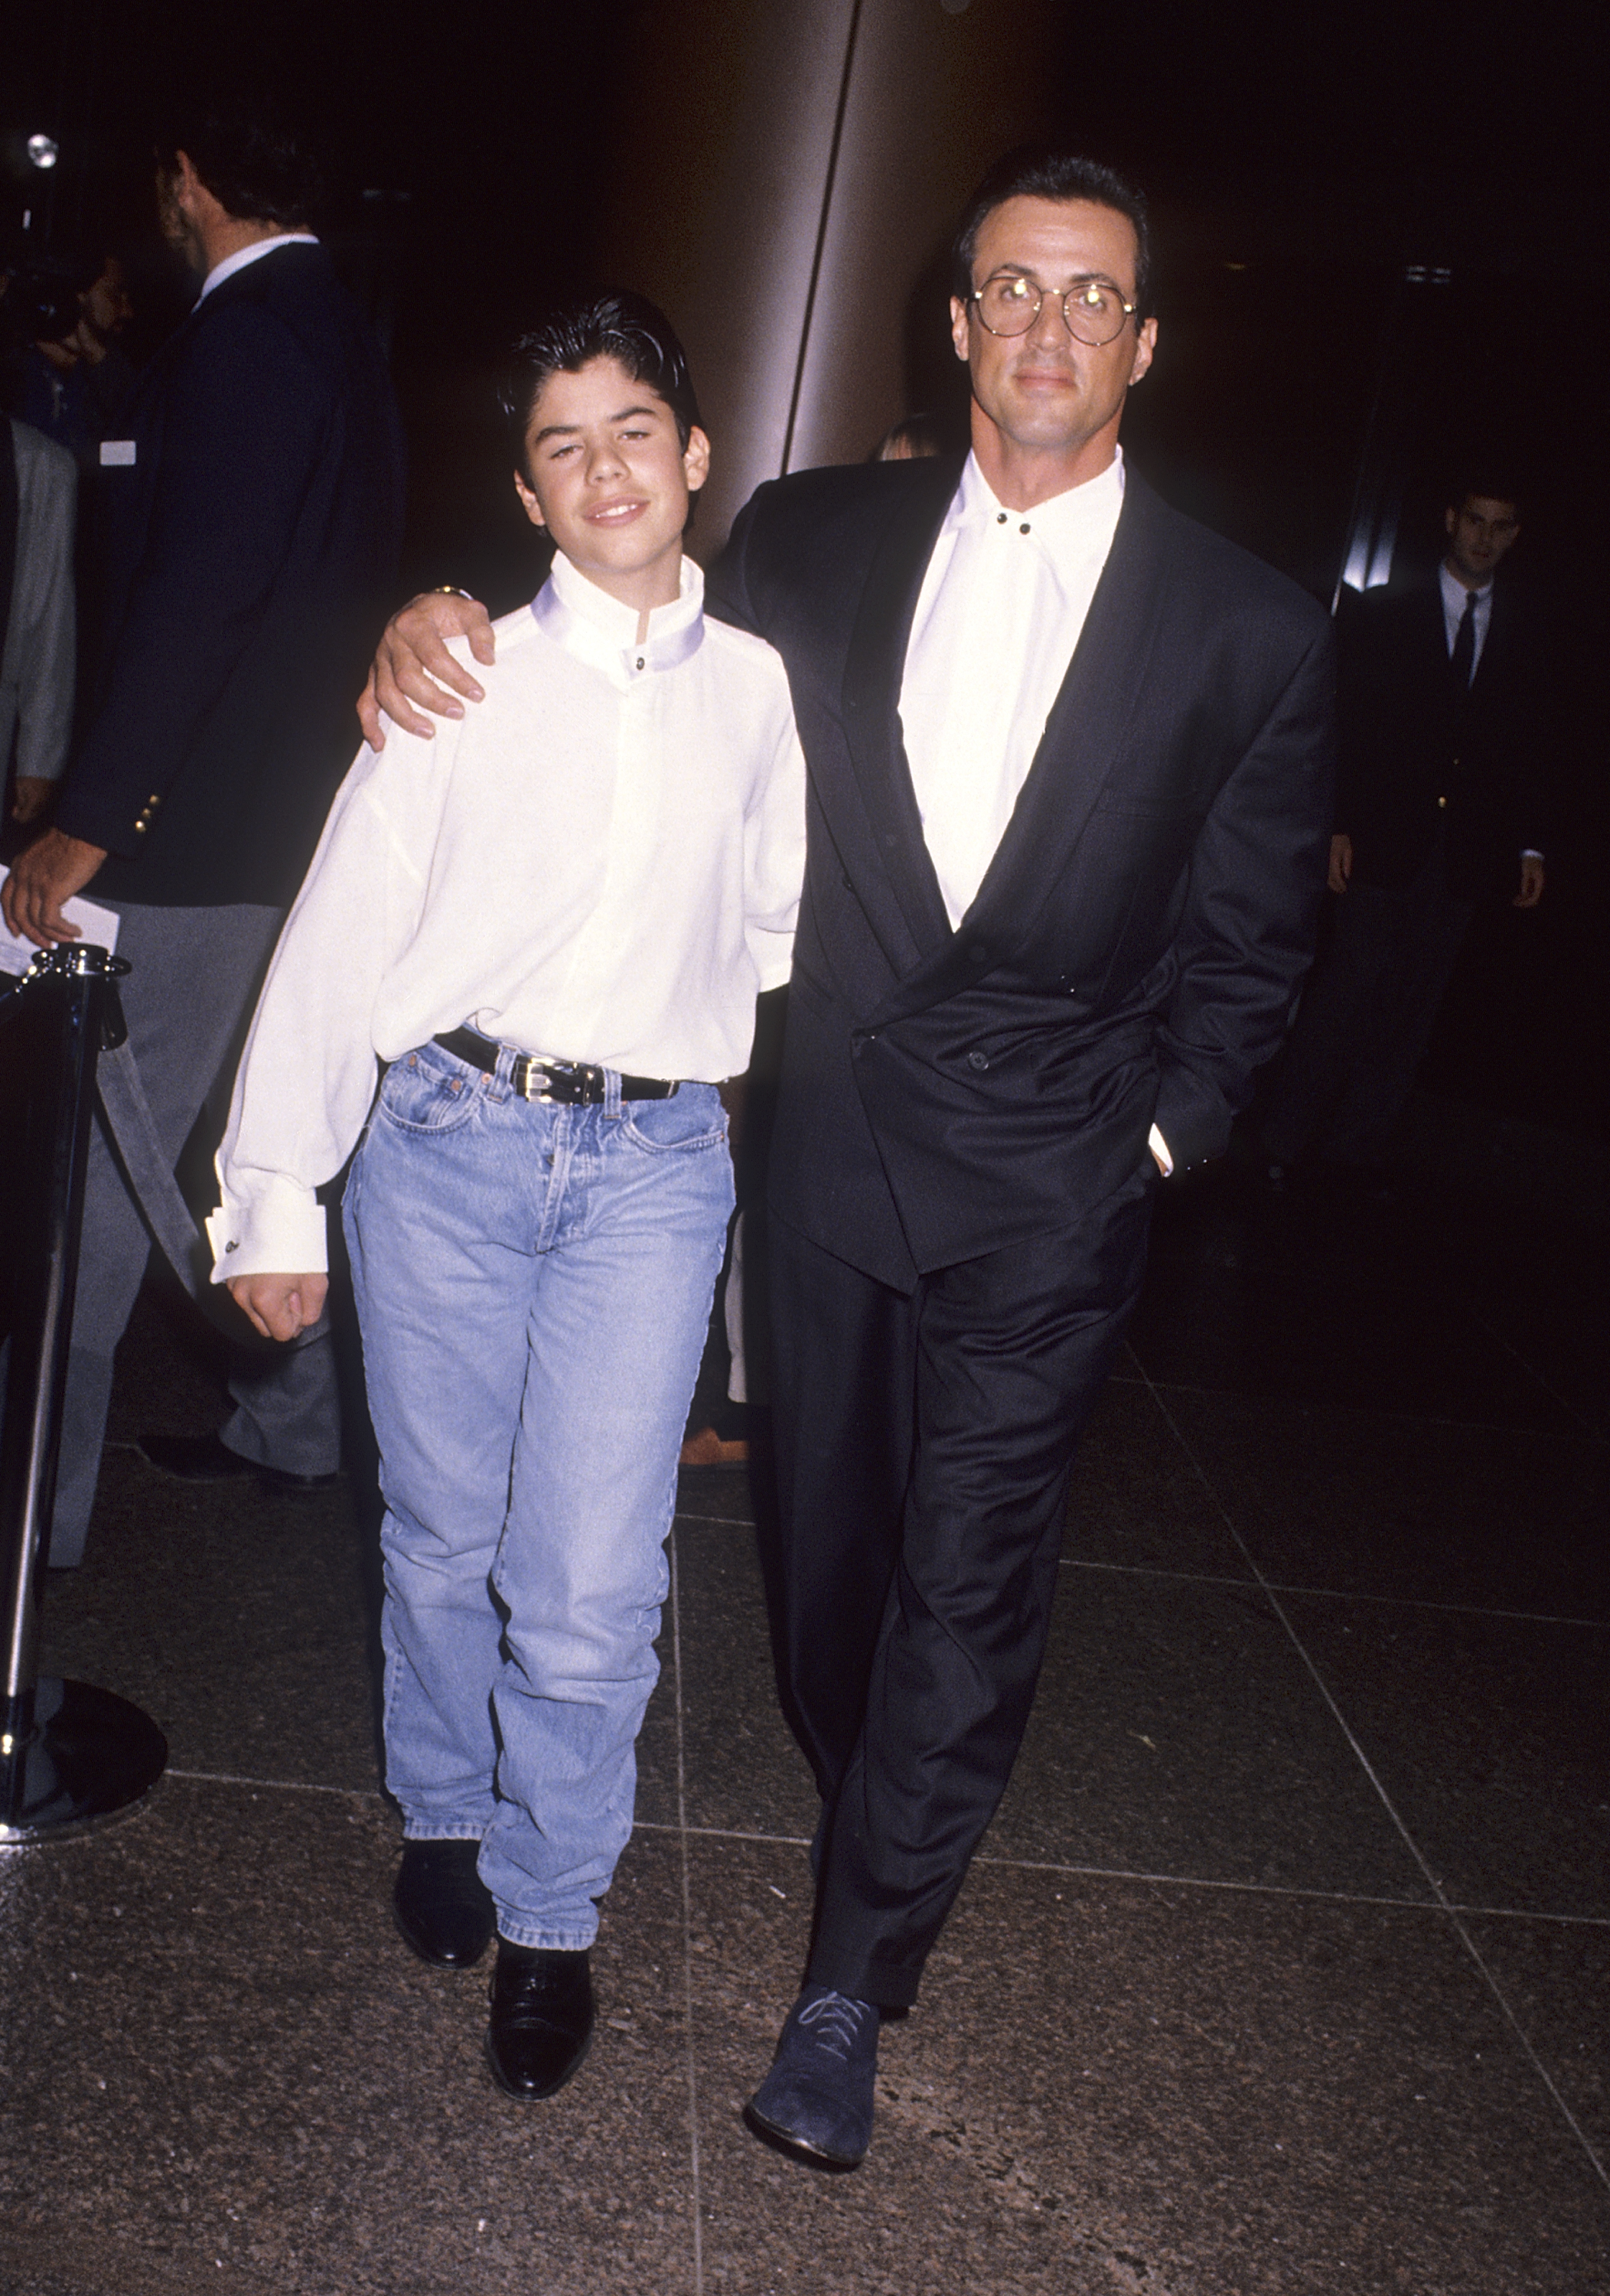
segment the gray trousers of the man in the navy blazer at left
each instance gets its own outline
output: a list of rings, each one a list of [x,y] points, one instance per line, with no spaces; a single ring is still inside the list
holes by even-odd
[[[179,1162],[214,1086],[230,1081],[220,1072],[239,1052],[280,921],[280,909],[262,907],[122,909],[117,955],[133,967],[119,983],[129,1045],[106,1058],[133,1061],[168,1171]],[[149,1249],[152,1231],[122,1159],[108,1143],[106,1116],[96,1109],[51,1518],[53,1566],[83,1557],[101,1472],[113,1355],[129,1325]],[[328,1474],[340,1465],[328,1327],[292,1348],[241,1345],[230,1396],[234,1412],[220,1433],[241,1458],[289,1474]]]

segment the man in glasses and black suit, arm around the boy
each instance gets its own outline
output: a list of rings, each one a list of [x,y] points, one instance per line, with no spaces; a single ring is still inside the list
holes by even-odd
[[[880,2011],[914,2000],[1006,1786],[1160,1171],[1224,1148],[1323,884],[1330,625],[1123,478],[1146,271],[1119,177],[1004,161],[958,236],[965,468],[767,484],[710,579],[783,654],[811,769],[769,1577],[822,1825],[749,2115],[818,2163],[866,2151]],[[393,629],[404,723],[443,705],[420,668],[473,691],[432,608],[473,627],[416,602]]]

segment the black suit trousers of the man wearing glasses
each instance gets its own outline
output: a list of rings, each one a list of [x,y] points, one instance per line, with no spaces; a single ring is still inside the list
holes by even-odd
[[[825,1800],[811,1979],[905,2007],[1006,1791],[1068,1467],[1146,1265],[1151,1157],[905,1295],[772,1221],[785,1713]]]

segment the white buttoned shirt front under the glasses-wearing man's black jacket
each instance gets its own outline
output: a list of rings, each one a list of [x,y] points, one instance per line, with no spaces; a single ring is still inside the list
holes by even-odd
[[[944,514],[905,647],[900,726],[951,925],[1001,843],[1123,510],[1123,455],[1006,510],[974,455]]]

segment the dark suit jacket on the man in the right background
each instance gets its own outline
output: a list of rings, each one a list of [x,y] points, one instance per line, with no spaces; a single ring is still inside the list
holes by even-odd
[[[1341,781],[1337,829],[1360,884],[1406,886],[1445,833],[1461,900],[1518,884],[1525,847],[1543,852],[1537,774],[1543,668],[1525,606],[1493,590],[1493,618],[1461,698],[1442,595],[1369,590],[1341,622]]]

